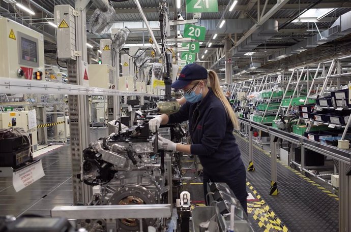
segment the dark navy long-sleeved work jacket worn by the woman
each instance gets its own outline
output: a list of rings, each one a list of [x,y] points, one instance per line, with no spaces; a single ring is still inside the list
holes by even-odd
[[[243,165],[230,117],[211,89],[200,102],[186,102],[179,112],[169,115],[168,123],[187,120],[191,154],[199,156],[204,172],[228,174]]]

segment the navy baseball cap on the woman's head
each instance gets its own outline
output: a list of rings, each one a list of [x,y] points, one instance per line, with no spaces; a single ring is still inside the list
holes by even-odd
[[[189,63],[182,69],[178,79],[172,83],[172,88],[182,89],[192,81],[207,79],[207,69],[196,63]]]

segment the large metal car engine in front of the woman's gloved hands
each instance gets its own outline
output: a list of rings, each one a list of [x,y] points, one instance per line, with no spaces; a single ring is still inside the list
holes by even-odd
[[[166,186],[167,172],[161,157],[154,153],[155,138],[145,124],[101,138],[84,149],[80,180],[96,186],[90,205],[168,203],[164,193],[170,187]],[[83,224],[104,231],[104,224],[96,224],[98,221]],[[116,220],[115,226],[118,231],[139,231],[139,223],[140,219],[125,218]],[[160,223],[156,218],[142,219],[143,227],[158,227]]]

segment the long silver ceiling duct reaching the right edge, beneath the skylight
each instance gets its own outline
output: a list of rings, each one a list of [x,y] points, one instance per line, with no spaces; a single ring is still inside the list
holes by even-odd
[[[341,15],[335,20],[334,24],[327,30],[321,31],[300,43],[297,43],[291,47],[282,49],[281,51],[275,52],[268,57],[269,61],[278,60],[285,58],[289,55],[298,54],[306,51],[309,48],[315,48],[321,44],[333,41],[335,39],[344,37],[351,33],[351,11]]]

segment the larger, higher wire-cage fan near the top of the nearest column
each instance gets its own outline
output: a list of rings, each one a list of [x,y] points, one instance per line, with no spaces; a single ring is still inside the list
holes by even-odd
[[[112,27],[116,12],[113,6],[109,6],[106,12],[96,9],[90,19],[91,32],[94,35],[104,35]]]

